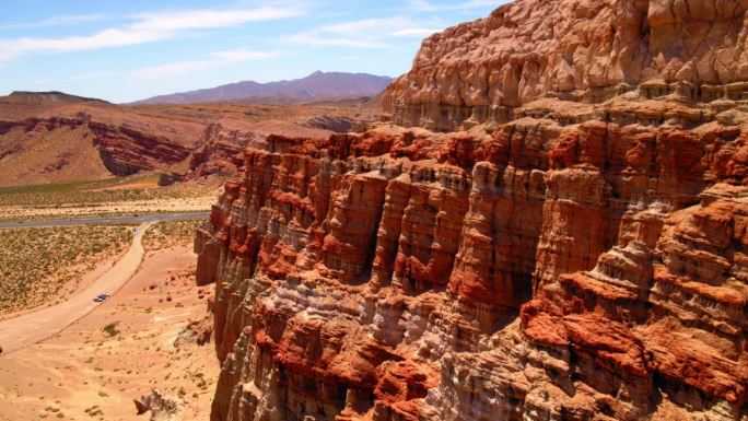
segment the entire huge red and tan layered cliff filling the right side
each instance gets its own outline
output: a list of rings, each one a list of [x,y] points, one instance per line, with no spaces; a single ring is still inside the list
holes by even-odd
[[[388,90],[398,122],[507,121],[247,149],[196,239],[212,420],[748,418],[747,9],[518,1]]]

